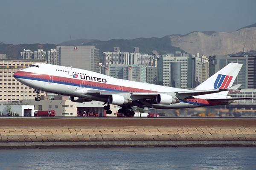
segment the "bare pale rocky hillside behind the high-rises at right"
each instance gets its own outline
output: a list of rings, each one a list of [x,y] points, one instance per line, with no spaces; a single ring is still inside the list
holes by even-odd
[[[227,55],[256,51],[256,27],[243,28],[232,33],[192,32],[187,35],[170,35],[171,45],[190,54]]]

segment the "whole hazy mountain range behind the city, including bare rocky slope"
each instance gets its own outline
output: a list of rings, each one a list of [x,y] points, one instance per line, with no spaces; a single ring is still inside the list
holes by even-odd
[[[248,54],[255,54],[256,51],[256,24],[243,27],[232,33],[202,31],[191,32],[186,35],[168,35],[162,38],[137,38],[134,40],[109,40],[100,41],[96,39],[79,39],[62,42],[58,45],[94,45],[100,50],[101,61],[104,51],[113,51],[113,47],[120,47],[120,51],[132,52],[134,47],[139,47],[140,53],[152,54],[151,51],[156,50],[159,54],[182,53],[209,55],[240,55],[252,51]],[[7,58],[19,58],[23,49],[56,48],[54,44],[4,44],[0,42],[0,54],[6,54]]]

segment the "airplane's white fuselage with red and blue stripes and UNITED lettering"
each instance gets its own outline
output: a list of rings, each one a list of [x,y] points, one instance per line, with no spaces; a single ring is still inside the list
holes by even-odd
[[[33,67],[25,68],[14,74],[14,77],[31,88],[47,91],[55,94],[82,97],[84,99],[108,102],[107,98],[92,96],[87,91],[109,91],[113,93],[151,93],[151,92],[177,92],[189,91],[186,89],[152,85],[142,82],[133,82],[123,79],[116,79],[92,71],[79,68],[69,68],[59,65],[36,64]],[[207,94],[197,96],[186,102],[171,105],[154,104],[153,108],[191,108],[206,105],[218,105],[220,102],[209,103],[205,99],[221,98],[223,95]]]

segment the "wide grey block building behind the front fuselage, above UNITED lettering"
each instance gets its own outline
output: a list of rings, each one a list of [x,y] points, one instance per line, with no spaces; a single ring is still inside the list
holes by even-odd
[[[99,73],[99,49],[93,45],[57,46],[57,65]]]

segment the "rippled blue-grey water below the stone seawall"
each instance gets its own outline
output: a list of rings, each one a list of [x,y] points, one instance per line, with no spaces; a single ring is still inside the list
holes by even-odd
[[[0,150],[1,170],[256,170],[256,147]]]

